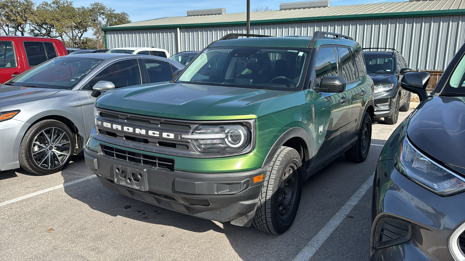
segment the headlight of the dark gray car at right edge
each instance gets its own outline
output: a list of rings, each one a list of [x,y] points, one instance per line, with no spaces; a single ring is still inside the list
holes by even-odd
[[[465,189],[465,179],[426,157],[405,136],[400,145],[396,169],[426,189],[448,196]]]

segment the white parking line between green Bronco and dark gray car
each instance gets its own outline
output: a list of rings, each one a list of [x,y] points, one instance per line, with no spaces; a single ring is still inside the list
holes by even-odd
[[[372,144],[373,145],[373,144]],[[332,217],[332,219],[321,228],[317,235],[306,245],[302,251],[294,258],[294,261],[308,261],[312,258],[313,254],[317,252],[318,248],[323,245],[326,239],[336,229],[339,224],[344,220],[345,216],[353,209],[353,207],[360,201],[366,191],[370,189],[373,184],[375,174],[373,173],[363,185],[345,202],[344,206],[339,209],[338,213]]]

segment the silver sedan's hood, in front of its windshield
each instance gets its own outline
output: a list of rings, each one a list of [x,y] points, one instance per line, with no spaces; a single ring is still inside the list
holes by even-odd
[[[0,85],[0,110],[8,105],[27,102],[57,93],[57,90],[43,88]]]

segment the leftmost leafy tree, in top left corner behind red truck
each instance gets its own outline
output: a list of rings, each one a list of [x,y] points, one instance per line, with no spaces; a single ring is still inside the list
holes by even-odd
[[[1,0],[0,26],[5,35],[26,33],[26,25],[33,17],[35,4],[31,0]]]

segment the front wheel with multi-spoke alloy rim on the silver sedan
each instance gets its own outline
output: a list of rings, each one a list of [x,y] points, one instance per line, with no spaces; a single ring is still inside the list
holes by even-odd
[[[73,156],[73,144],[73,132],[65,124],[56,120],[40,121],[21,141],[20,166],[37,175],[63,170]]]

